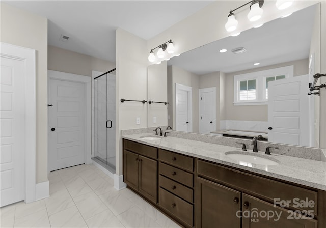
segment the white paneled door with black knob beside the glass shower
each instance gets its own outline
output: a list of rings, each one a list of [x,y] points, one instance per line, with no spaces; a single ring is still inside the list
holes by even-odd
[[[85,83],[51,78],[48,100],[49,170],[85,163]]]

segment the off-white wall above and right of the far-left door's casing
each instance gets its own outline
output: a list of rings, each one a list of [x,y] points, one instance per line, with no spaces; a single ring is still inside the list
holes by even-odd
[[[0,3],[0,41],[36,50],[36,183],[47,181],[47,19]]]

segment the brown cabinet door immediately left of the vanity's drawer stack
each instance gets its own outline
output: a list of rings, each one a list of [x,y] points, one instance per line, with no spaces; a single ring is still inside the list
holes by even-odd
[[[138,191],[156,203],[157,196],[157,161],[139,155]]]

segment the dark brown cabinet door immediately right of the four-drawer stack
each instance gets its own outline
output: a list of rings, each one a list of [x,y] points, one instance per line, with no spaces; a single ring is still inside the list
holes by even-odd
[[[197,228],[240,228],[240,192],[200,177],[196,191]]]

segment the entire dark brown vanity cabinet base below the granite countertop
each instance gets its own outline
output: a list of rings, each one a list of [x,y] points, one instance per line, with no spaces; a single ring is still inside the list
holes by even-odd
[[[326,228],[326,191],[126,139],[123,178],[187,228]]]

